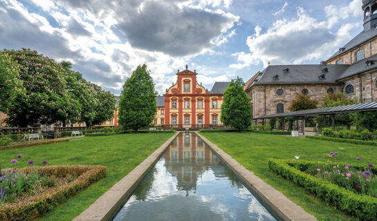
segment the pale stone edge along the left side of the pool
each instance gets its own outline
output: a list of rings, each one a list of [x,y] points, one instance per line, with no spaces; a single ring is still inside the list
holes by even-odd
[[[176,132],[156,151],[149,155],[144,161],[136,166],[125,177],[114,184],[108,191],[100,196],[88,209],[77,215],[75,221],[104,221],[109,220],[113,213],[127,199],[129,194],[134,190],[138,183],[145,177],[149,169],[160,159],[169,144],[173,142],[179,132]]]

